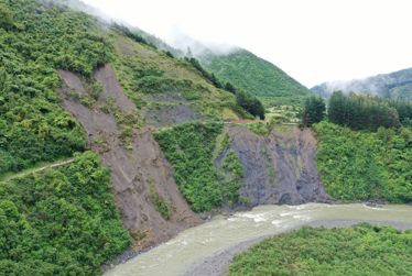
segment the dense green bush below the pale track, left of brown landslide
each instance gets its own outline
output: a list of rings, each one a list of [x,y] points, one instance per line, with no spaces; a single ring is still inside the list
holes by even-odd
[[[0,275],[96,275],[129,243],[94,153],[0,183]]]

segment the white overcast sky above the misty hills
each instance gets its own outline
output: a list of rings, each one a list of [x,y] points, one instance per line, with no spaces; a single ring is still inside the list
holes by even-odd
[[[234,44],[307,87],[412,67],[411,0],[84,0],[173,44]]]

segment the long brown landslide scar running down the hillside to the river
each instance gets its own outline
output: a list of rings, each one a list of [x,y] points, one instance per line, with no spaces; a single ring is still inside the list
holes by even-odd
[[[127,120],[132,121],[137,114],[135,107],[123,93],[112,68],[106,65],[95,73],[101,91],[91,106],[82,103],[90,93],[89,85],[73,73],[61,70],[59,75],[63,107],[80,122],[89,146],[111,170],[116,202],[135,249],[166,241],[199,223],[180,194],[151,131],[127,125]]]

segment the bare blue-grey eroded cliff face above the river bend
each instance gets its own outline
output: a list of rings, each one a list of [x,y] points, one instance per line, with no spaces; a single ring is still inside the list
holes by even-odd
[[[326,202],[329,197],[316,168],[316,139],[311,130],[291,128],[262,136],[241,125],[226,126],[229,147],[216,159],[219,169],[229,148],[243,167],[240,195],[250,206]]]

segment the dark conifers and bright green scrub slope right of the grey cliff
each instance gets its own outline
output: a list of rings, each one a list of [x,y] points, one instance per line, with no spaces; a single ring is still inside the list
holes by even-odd
[[[319,97],[306,100],[303,110],[303,124],[313,124],[317,134],[317,168],[329,196],[411,202],[410,103],[337,91],[326,118]]]

